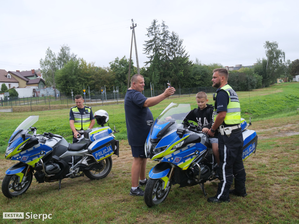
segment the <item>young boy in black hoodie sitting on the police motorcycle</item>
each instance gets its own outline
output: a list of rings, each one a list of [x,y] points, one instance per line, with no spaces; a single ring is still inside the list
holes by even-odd
[[[208,133],[210,128],[214,123],[214,107],[213,105],[207,104],[208,96],[205,92],[199,92],[196,94],[196,102],[198,108],[194,108],[190,111],[185,120],[191,120],[197,122],[197,125],[202,129],[202,132]],[[173,117],[175,118],[175,117]],[[167,117],[166,121],[171,119],[171,117]],[[212,150],[216,159],[217,164],[219,165],[219,152],[218,152],[218,131],[216,130],[215,135],[213,137],[209,136],[209,140],[212,145]]]

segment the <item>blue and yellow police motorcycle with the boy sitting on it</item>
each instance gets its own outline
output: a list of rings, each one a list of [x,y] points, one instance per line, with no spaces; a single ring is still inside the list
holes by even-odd
[[[214,158],[208,136],[193,123],[184,120],[190,112],[189,104],[171,103],[153,121],[145,144],[147,158],[159,162],[149,171],[149,180],[144,190],[144,202],[152,207],[163,202],[171,185],[179,187],[199,184],[204,195],[204,184],[216,179],[218,165]],[[181,119],[170,119],[177,117]],[[244,119],[240,123],[244,139],[243,160],[255,153],[257,134],[247,129]],[[220,133],[219,133],[220,134]]]

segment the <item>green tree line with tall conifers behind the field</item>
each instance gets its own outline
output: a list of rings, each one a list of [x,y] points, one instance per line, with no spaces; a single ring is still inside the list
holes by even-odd
[[[170,82],[178,88],[194,88],[211,86],[212,71],[223,67],[221,64],[202,64],[199,59],[195,62],[189,59],[183,45],[183,39],[174,31],[170,32],[162,20],[159,24],[154,19],[147,28],[148,40],[144,43],[143,51],[148,61],[141,67],[140,74],[144,76],[145,88],[150,83],[155,88],[164,88]],[[277,42],[266,41],[264,44],[265,58],[258,59],[252,68],[241,68],[229,71],[228,83],[237,91],[253,90],[268,87],[280,77],[289,77],[299,73],[299,60],[285,61],[285,53],[278,48]],[[54,53],[50,48],[46,51],[45,59],[40,59],[40,67],[47,86],[54,86],[66,96],[81,94],[83,88],[100,92],[106,87],[107,92],[118,87],[120,93],[127,89],[129,74],[129,59],[126,56],[116,57],[107,67],[98,67],[94,62],[86,62],[83,58],[71,53],[68,45],[61,46],[60,52]],[[137,68],[131,61],[131,76],[137,73]]]

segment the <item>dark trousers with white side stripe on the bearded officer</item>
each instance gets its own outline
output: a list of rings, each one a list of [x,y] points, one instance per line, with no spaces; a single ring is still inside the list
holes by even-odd
[[[229,189],[235,177],[236,192],[245,192],[246,173],[242,159],[243,135],[242,129],[232,130],[228,137],[226,134],[218,135],[218,148],[220,164],[218,167],[219,184],[216,197],[229,199]]]

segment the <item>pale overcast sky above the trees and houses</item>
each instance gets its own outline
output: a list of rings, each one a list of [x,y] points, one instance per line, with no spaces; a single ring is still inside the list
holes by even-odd
[[[253,65],[265,57],[264,43],[278,42],[286,60],[299,58],[298,1],[5,1],[1,3],[0,69],[40,68],[48,47],[63,44],[86,62],[107,67],[130,57],[135,28],[139,66],[153,19],[176,32],[195,62]],[[133,40],[132,59],[136,66]]]

